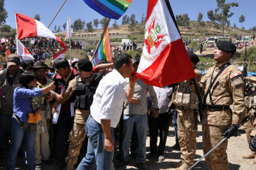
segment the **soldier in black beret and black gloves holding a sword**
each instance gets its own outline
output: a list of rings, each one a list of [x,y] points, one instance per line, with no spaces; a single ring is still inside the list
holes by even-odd
[[[237,129],[245,113],[243,76],[230,58],[236,46],[229,41],[218,41],[214,51],[217,64],[209,68],[200,81],[200,91],[204,96],[204,118],[202,121],[204,154],[216,146],[223,137],[236,136]],[[230,105],[234,106],[233,113]],[[228,140],[225,140],[205,157],[209,169],[228,168]]]

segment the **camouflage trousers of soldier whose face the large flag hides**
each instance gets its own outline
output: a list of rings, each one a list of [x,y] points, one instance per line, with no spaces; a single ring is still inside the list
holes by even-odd
[[[198,118],[195,119],[194,111],[188,110],[177,110],[177,128],[178,128],[178,139],[180,144],[180,158],[190,165],[194,161],[196,154],[196,132]]]

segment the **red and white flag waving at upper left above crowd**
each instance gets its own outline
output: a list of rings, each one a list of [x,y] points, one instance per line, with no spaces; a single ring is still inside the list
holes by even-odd
[[[57,39],[65,52],[67,51],[66,46],[63,41],[61,41],[58,36],[55,36],[47,27],[45,27],[42,22],[35,20],[34,18],[22,15],[20,13],[16,14],[16,23],[17,23],[17,39],[42,36],[52,39]]]

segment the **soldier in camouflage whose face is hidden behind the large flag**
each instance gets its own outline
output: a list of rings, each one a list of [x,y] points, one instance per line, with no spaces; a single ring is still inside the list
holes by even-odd
[[[202,73],[195,67],[200,60],[195,53],[189,52],[188,55],[195,70],[195,79],[200,82]],[[191,167],[196,153],[198,98],[195,89],[191,87],[191,80],[180,82],[174,95],[175,99],[173,96],[172,100],[178,108],[177,127],[181,161],[172,166],[177,167],[177,170],[186,170]]]

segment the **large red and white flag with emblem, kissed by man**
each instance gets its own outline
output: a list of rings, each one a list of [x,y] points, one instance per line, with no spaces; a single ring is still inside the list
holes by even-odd
[[[137,77],[157,87],[196,77],[168,0],[148,0],[145,44]]]

